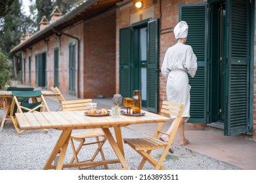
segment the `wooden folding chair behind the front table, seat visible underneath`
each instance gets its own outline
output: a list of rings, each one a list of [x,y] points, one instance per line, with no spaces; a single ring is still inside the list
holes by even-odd
[[[86,110],[87,104],[91,103],[91,99],[81,99],[81,100],[75,100],[75,101],[62,101],[62,108],[63,110]],[[102,138],[100,138],[102,137]],[[87,142],[86,139],[95,138],[95,141]],[[79,162],[91,162],[94,161],[98,153],[100,152],[100,156],[102,160],[105,160],[105,156],[102,150],[102,146],[106,142],[106,136],[103,131],[93,129],[93,131],[85,131],[82,133],[75,133],[72,134],[70,137],[70,144],[72,146],[72,151],[74,153],[74,156],[70,160],[70,163],[79,163]],[[77,149],[75,149],[74,141],[80,142],[77,146]],[[81,148],[83,146],[88,146],[92,144],[98,144],[98,148],[96,149],[95,153],[91,157],[91,159],[85,159],[85,160],[79,160],[77,155],[79,154]],[[93,166],[87,166],[87,167],[77,167],[77,169],[88,169]],[[104,165],[105,169],[108,169],[108,165]]]

